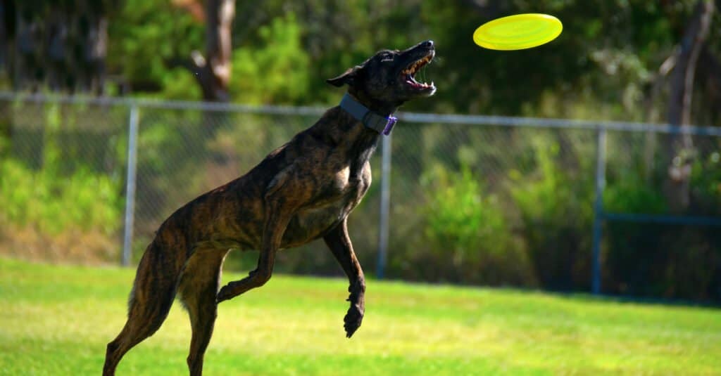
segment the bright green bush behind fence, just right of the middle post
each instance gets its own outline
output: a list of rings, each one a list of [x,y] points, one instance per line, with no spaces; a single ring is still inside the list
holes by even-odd
[[[430,169],[425,182],[425,246],[441,279],[464,283],[533,285],[528,256],[511,233],[506,210],[485,194],[467,166]],[[451,270],[444,270],[446,268]]]

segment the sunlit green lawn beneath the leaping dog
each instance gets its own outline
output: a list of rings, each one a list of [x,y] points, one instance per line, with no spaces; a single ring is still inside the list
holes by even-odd
[[[0,375],[99,375],[133,275],[0,259]],[[278,275],[221,304],[205,375],[721,375],[717,309],[371,280],[345,339],[346,288]],[[118,375],[187,374],[189,344],[176,304]]]

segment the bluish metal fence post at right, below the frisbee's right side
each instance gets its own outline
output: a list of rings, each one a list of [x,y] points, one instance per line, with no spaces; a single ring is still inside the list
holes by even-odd
[[[606,187],[606,128],[598,128],[596,149],[596,202],[593,204],[593,279],[591,292],[601,294],[601,238],[603,236],[603,189]]]

